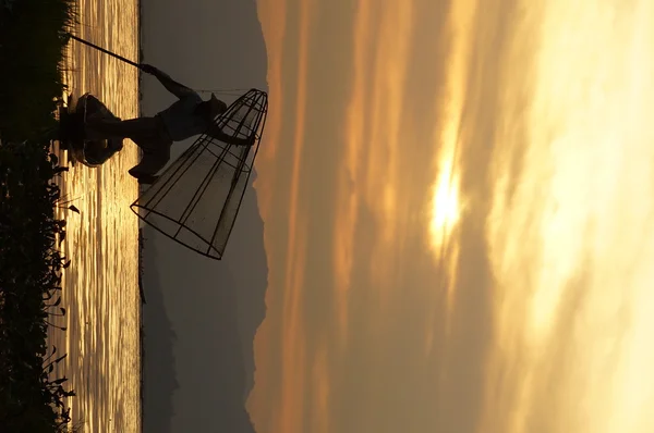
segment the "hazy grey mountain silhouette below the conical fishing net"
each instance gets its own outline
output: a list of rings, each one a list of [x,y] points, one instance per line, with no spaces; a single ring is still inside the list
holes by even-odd
[[[145,432],[179,431],[171,430],[173,415],[187,418],[183,424],[195,424],[190,431],[202,428],[202,431],[254,432],[244,400],[254,385],[253,341],[265,317],[266,272],[263,222],[258,219],[254,190],[250,189],[241,210],[243,221],[231,239],[239,247],[229,248],[229,259],[223,262],[193,251],[186,253],[172,240],[144,228],[146,238],[158,236],[149,245],[146,240],[146,269],[169,264],[159,272],[164,274],[159,282],[153,276],[155,272],[148,272],[144,279]],[[253,236],[254,233],[258,236]],[[241,244],[242,236],[261,240]],[[184,264],[175,270],[172,263],[180,256]],[[247,268],[250,272],[242,272]],[[161,280],[170,282],[172,274],[185,279],[187,284],[174,287],[161,284]],[[157,283],[162,288],[156,287]],[[167,304],[173,306],[168,311],[173,314],[174,333],[162,305],[161,289],[166,290]],[[184,394],[184,404],[192,406],[193,412],[171,405],[175,392]],[[215,430],[207,430],[214,425]]]

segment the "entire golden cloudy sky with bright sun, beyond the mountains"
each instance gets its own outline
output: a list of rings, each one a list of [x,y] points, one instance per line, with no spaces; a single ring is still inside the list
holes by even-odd
[[[257,432],[654,431],[654,5],[480,4],[259,0]]]

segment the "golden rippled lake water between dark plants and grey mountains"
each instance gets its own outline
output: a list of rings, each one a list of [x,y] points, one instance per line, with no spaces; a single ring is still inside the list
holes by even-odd
[[[80,0],[77,36],[138,59],[136,0]],[[75,98],[92,92],[118,116],[138,114],[138,75],[128,64],[72,41],[66,81]],[[65,164],[66,153],[61,152]],[[64,273],[62,306],[68,313],[50,331],[58,352],[68,352],[57,374],[76,392],[69,399],[73,424],[84,432],[138,432],[141,421],[141,298],[138,221],[130,210],[137,183],[128,174],[136,147],[99,169],[71,166],[62,194],[80,209],[64,210],[68,237],[62,248],[72,260]]]

